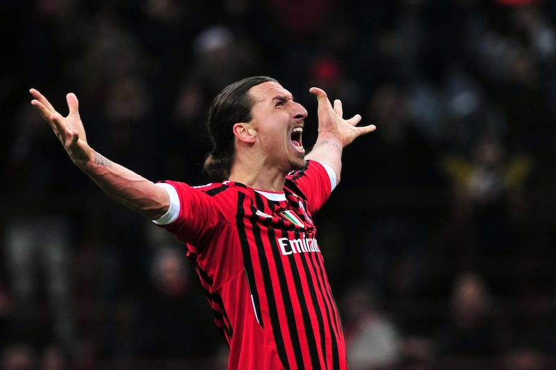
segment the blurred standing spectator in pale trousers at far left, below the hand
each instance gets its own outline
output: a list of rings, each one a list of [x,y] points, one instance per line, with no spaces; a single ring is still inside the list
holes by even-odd
[[[31,200],[23,209],[17,204],[4,225],[3,253],[14,299],[10,335],[38,350],[53,338],[65,355],[76,355],[73,223],[62,213],[67,207],[60,209],[71,195],[64,193],[64,198],[56,192],[76,190],[79,182],[72,182],[70,168],[45,164],[44,159],[55,158],[59,150],[51,150],[52,140],[45,138],[51,132],[35,115],[27,105],[20,108],[8,156],[10,190],[18,195],[14,200]]]

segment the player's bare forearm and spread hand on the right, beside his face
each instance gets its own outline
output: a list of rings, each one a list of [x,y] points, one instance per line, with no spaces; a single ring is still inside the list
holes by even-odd
[[[340,182],[343,148],[377,127],[374,124],[357,126],[361,121],[359,114],[345,120],[342,117],[342,102],[336,99],[332,106],[325,90],[311,88],[309,92],[316,96],[318,102],[318,136],[313,150],[306,154],[305,159],[327,163],[336,172],[336,181]]]

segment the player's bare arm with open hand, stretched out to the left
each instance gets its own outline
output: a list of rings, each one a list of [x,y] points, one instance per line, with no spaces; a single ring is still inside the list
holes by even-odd
[[[151,220],[167,211],[170,200],[160,186],[135,172],[106,159],[87,143],[83,122],[79,117],[79,102],[74,93],[66,96],[70,113],[63,117],[38,90],[29,90],[31,104],[62,143],[73,163],[117,202]]]

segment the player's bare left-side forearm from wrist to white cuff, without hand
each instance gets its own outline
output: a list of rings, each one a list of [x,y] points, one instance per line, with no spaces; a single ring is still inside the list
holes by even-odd
[[[111,198],[146,218],[160,218],[170,205],[163,188],[94,150],[90,160],[74,163]]]

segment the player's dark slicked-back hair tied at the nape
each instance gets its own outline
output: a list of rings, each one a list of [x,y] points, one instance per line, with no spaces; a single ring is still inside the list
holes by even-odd
[[[267,81],[277,82],[272,77],[254,76],[231,83],[216,95],[208,108],[206,126],[213,148],[204,161],[204,172],[211,181],[220,182],[229,177],[235,154],[232,127],[252,119],[254,102],[247,92]]]

